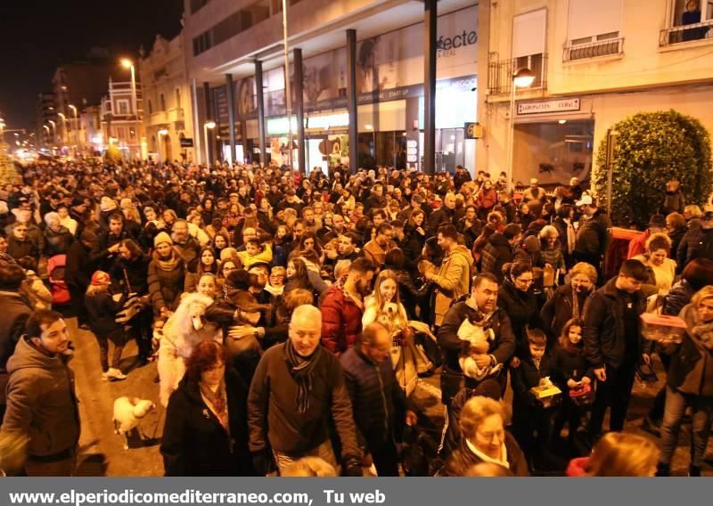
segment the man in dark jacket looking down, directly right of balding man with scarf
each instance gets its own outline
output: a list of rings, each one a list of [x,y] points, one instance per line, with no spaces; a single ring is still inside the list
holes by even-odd
[[[389,359],[392,339],[380,323],[367,325],[361,341],[341,355],[341,367],[354,409],[356,437],[365,455],[371,455],[380,477],[398,476],[395,440],[416,413],[407,407]],[[367,459],[368,463],[369,459]]]

